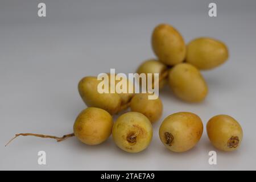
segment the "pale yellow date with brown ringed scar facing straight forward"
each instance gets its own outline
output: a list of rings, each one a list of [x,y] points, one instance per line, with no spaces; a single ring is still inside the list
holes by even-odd
[[[150,144],[152,125],[146,116],[137,112],[128,112],[117,118],[113,126],[115,144],[126,152],[141,152]]]

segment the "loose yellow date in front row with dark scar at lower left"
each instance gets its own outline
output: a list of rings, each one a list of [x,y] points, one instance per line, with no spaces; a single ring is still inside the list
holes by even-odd
[[[166,133],[172,136],[168,140]],[[196,114],[180,112],[169,115],[159,128],[159,137],[169,150],[185,152],[199,142],[203,134],[203,123]]]

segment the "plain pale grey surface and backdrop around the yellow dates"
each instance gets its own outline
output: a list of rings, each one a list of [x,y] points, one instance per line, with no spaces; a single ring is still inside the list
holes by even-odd
[[[0,2],[0,169],[256,169],[256,3],[215,1],[217,18],[208,16],[210,1],[43,1],[47,17],[37,17],[36,1]],[[75,137],[19,137],[15,133],[62,136],[72,132],[77,114],[85,108],[78,92],[80,78],[109,72],[132,73],[154,57],[152,29],[174,25],[186,42],[198,36],[224,41],[230,59],[203,72],[207,100],[187,104],[166,88],[160,93],[163,116],[154,125],[150,146],[139,154],[117,148],[110,137],[99,146],[86,146]],[[242,146],[217,151],[217,165],[208,164],[216,150],[204,130],[195,148],[182,154],[160,142],[161,121],[177,111],[192,111],[205,124],[216,114],[229,114],[243,128]],[[47,154],[39,166],[38,151]]]

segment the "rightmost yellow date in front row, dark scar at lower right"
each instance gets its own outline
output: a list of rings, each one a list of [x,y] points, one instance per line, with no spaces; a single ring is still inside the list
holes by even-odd
[[[222,151],[237,150],[243,138],[242,127],[229,115],[212,117],[207,123],[207,134],[213,146]]]

